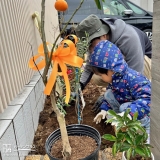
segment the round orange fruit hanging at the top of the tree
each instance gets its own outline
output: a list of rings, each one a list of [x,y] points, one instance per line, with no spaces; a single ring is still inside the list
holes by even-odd
[[[57,11],[66,11],[68,4],[65,0],[56,0],[54,7]]]

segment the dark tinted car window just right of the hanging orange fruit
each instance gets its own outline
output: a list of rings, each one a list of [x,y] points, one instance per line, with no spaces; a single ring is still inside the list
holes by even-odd
[[[68,9],[67,14],[72,15],[75,9],[79,6],[80,1],[77,0],[67,0]],[[93,0],[85,0],[81,8],[77,11],[76,15],[90,15],[98,14],[98,9],[96,3]]]

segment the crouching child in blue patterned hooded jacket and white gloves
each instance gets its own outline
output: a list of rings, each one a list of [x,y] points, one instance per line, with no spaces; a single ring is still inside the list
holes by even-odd
[[[128,67],[119,48],[110,41],[100,41],[89,58],[92,71],[109,83],[104,94],[96,123],[107,116],[109,109],[116,113],[130,108],[130,116],[138,112],[138,120],[150,132],[151,83],[141,73]]]

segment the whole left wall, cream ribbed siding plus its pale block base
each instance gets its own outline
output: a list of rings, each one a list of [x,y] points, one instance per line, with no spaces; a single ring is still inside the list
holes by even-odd
[[[53,43],[59,34],[56,0],[46,0],[45,31]],[[0,0],[0,160],[24,160],[29,151],[14,147],[32,145],[44,85],[38,72],[28,68],[42,43],[32,14],[41,14],[41,0]],[[3,112],[3,113],[2,113]]]

